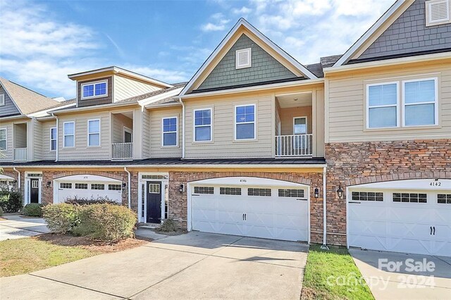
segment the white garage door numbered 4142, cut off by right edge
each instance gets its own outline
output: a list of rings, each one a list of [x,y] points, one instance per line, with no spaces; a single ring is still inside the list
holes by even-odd
[[[451,256],[451,180],[383,182],[349,192],[349,246]]]

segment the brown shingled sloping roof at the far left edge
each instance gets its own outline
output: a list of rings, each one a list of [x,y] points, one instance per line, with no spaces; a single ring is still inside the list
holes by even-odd
[[[23,115],[35,111],[43,111],[46,108],[59,104],[54,99],[34,92],[5,78],[0,77],[0,84]]]

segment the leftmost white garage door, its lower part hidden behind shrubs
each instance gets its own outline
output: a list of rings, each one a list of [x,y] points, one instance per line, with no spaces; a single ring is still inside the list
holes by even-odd
[[[73,175],[54,181],[54,203],[67,199],[98,199],[107,197],[113,201],[122,201],[122,183],[108,177],[97,175]]]

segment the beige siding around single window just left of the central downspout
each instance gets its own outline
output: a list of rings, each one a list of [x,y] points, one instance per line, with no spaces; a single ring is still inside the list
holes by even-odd
[[[178,145],[162,146],[163,118],[177,117]],[[160,108],[150,111],[150,157],[181,158],[182,157],[182,108]]]

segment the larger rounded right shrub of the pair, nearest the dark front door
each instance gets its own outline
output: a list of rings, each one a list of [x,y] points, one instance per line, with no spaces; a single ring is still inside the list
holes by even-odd
[[[118,242],[133,237],[137,218],[125,206],[92,204],[80,209],[80,223],[74,228],[74,235],[83,235],[106,242]]]

